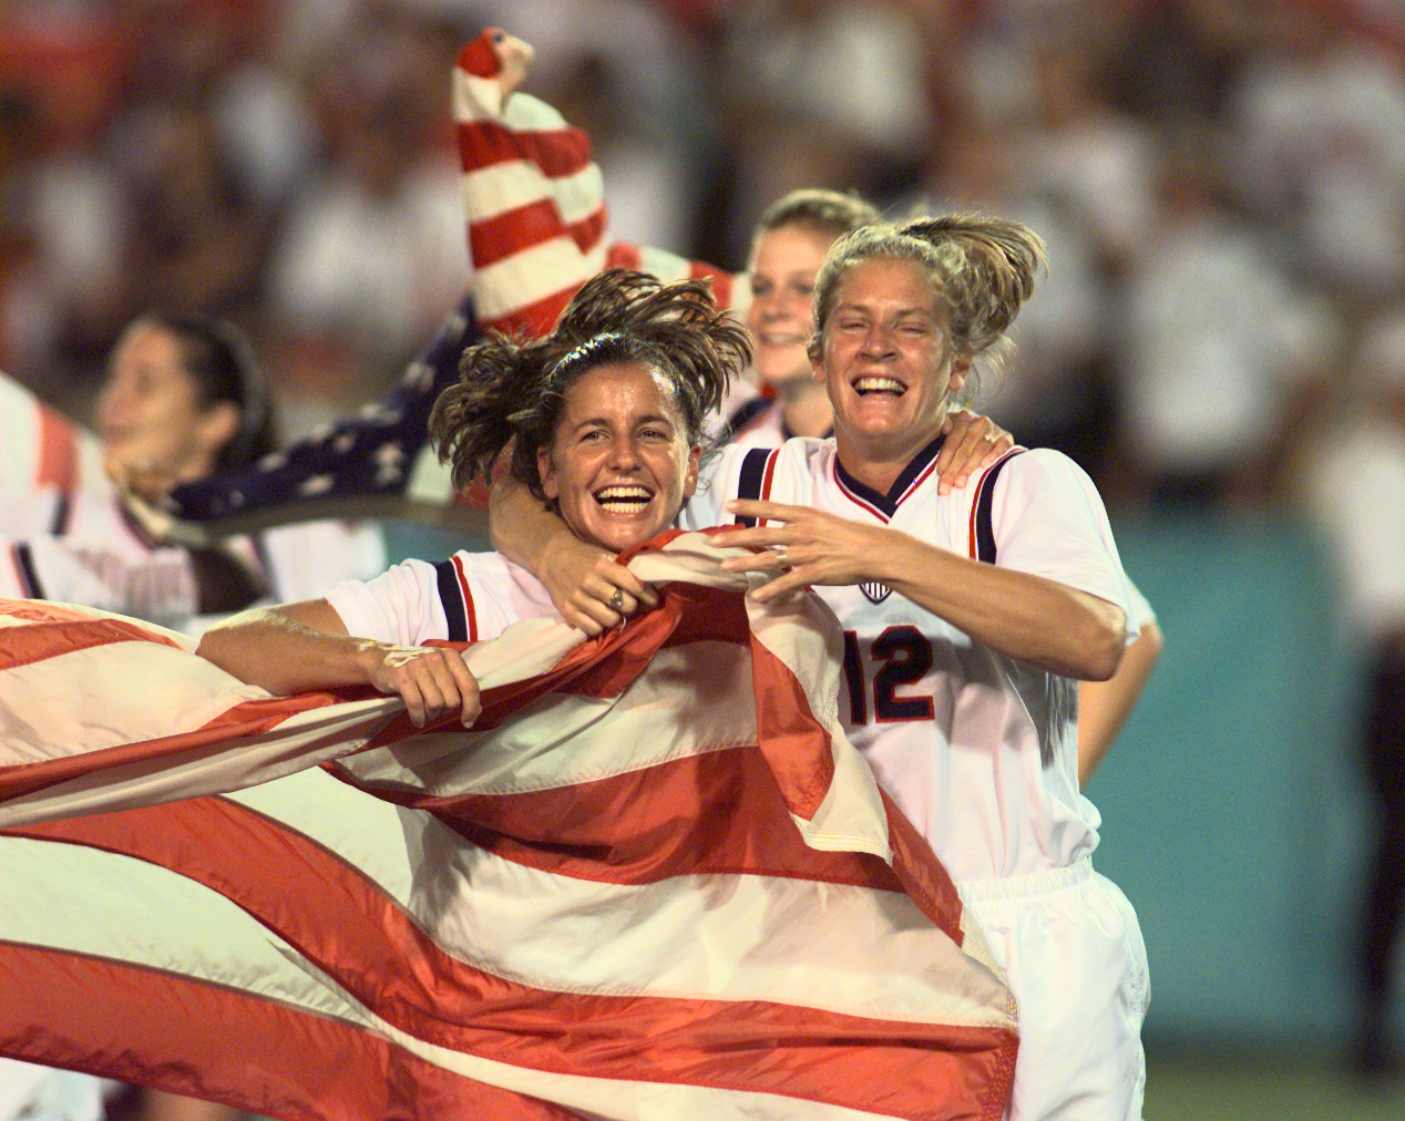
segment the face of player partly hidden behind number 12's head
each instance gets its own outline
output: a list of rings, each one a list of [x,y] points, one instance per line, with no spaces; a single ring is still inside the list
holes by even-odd
[[[795,223],[766,230],[752,247],[752,303],[746,329],[754,346],[753,369],[771,385],[809,379],[805,354],[812,326],[815,274],[835,233]]]

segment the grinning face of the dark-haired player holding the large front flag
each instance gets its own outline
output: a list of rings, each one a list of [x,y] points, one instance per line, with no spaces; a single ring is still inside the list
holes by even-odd
[[[666,382],[639,362],[615,362],[566,391],[537,468],[576,537],[620,552],[673,524],[697,486],[700,454]]]

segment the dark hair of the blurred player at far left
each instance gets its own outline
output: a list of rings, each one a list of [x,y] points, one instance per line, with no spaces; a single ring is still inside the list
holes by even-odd
[[[201,405],[226,400],[239,409],[239,430],[219,450],[214,473],[242,471],[274,451],[277,431],[268,385],[239,327],[223,319],[160,310],[145,312],[131,326],[152,326],[176,337],[181,368],[200,388]]]

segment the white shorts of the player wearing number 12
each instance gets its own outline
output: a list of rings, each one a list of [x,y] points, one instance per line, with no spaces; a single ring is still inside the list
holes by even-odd
[[[1137,913],[1085,857],[957,885],[1020,1013],[1010,1121],[1139,1121],[1151,988]]]

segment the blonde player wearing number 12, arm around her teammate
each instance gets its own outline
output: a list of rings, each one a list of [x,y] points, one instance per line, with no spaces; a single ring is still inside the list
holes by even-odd
[[[1145,947],[1092,868],[1100,818],[1079,791],[1075,721],[1076,678],[1111,677],[1130,634],[1107,517],[1058,452],[1012,452],[951,493],[933,471],[950,400],[1003,346],[1041,264],[1038,239],[998,219],[842,237],[811,343],[835,440],[724,450],[684,523],[754,523],[718,538],[763,549],[726,566],[773,573],[760,600],[812,586],[839,615],[850,738],[955,878],[1019,1002],[1012,1117],[1135,1118]],[[524,497],[499,501],[513,517],[495,541],[538,568],[565,530]],[[580,594],[613,604],[607,618],[648,601],[620,566],[601,573],[614,579]]]

